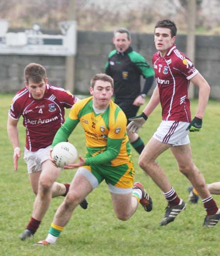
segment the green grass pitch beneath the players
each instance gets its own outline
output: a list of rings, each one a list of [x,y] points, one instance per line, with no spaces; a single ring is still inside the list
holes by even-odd
[[[153,198],[154,207],[149,213],[141,206],[127,222],[114,215],[110,193],[105,182],[88,196],[88,209],[77,208],[58,238],[55,246],[35,247],[33,244],[46,237],[54,213],[63,197],[54,198],[33,239],[20,241],[18,236],[28,223],[34,194],[29,185],[26,165],[21,157],[19,169],[13,170],[13,149],[7,137],[7,113],[12,94],[1,94],[0,115],[0,255],[1,256],[219,256],[220,224],[213,229],[202,227],[205,210],[199,200],[197,205],[187,202],[188,180],[178,172],[177,164],[168,150],[158,158],[175,187],[185,200],[187,208],[173,223],[160,227],[166,201],[162,192],[150,177],[138,167],[138,154],[133,152],[135,181],[140,181]],[[147,99],[149,100],[149,98]],[[192,116],[197,100],[191,102]],[[140,135],[147,142],[161,120],[158,106],[149,117]],[[21,147],[24,147],[25,131],[19,122]],[[194,162],[204,174],[207,183],[220,180],[220,103],[209,101],[199,133],[190,133]],[[84,134],[80,125],[70,136],[70,142],[79,154],[86,152]],[[22,155],[23,156],[23,155]],[[64,170],[59,182],[70,182],[76,170]],[[220,196],[214,196],[220,206]]]

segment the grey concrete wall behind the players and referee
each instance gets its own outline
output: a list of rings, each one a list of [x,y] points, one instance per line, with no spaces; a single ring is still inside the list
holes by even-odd
[[[104,71],[107,56],[114,48],[111,39],[111,32],[78,31],[74,93],[88,93],[90,79],[95,73]],[[186,36],[178,35],[176,45],[186,52]],[[152,66],[151,58],[156,51],[153,34],[133,33],[132,47]],[[0,93],[22,88],[23,69],[30,62],[44,65],[49,82],[65,87],[65,57],[0,55]],[[195,66],[209,82],[211,98],[220,99],[220,36],[196,37]]]

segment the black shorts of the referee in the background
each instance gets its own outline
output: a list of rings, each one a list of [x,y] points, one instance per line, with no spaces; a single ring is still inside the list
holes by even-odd
[[[128,118],[136,116],[137,112],[139,110],[140,107],[134,106],[133,105],[133,101],[134,99],[117,99],[115,98],[114,103],[116,103],[125,113],[125,116]],[[130,123],[130,121],[128,120],[128,123]]]

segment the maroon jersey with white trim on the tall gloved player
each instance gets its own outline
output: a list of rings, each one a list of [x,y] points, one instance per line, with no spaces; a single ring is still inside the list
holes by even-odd
[[[184,53],[173,45],[164,57],[153,55],[155,78],[162,106],[162,120],[191,122],[188,89],[198,70]]]

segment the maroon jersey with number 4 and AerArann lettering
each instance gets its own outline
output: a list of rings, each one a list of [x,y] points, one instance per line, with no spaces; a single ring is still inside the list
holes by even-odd
[[[37,151],[52,144],[57,130],[64,123],[64,108],[71,108],[77,98],[66,90],[46,85],[44,97],[36,100],[27,88],[21,89],[12,100],[9,116],[18,120],[23,116],[26,145]]]

